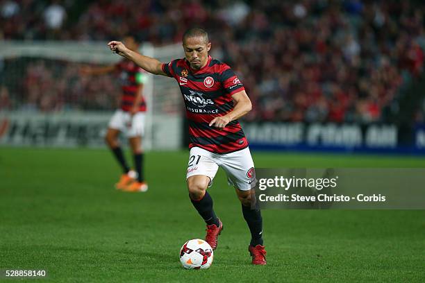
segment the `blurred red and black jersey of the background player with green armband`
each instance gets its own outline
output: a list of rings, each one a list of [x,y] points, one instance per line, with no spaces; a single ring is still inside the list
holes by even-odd
[[[133,107],[139,86],[146,80],[146,73],[142,68],[138,67],[138,65],[135,65],[135,63],[130,60],[118,62],[115,68],[119,71],[119,78],[121,80],[121,109],[127,112]],[[144,97],[142,97],[142,101],[140,102],[139,111],[146,111]]]

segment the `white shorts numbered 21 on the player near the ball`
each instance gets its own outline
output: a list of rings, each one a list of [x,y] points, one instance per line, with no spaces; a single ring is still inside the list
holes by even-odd
[[[248,191],[256,185],[256,173],[249,148],[234,153],[217,154],[193,147],[190,149],[186,179],[193,175],[206,175],[213,182],[219,167],[226,172],[228,185],[242,191]]]

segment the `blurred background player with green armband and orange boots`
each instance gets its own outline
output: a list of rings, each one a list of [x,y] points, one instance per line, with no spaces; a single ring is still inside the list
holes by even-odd
[[[129,50],[137,51],[139,42],[133,35],[124,37],[124,42]],[[123,191],[147,191],[147,182],[144,180],[142,135],[144,132],[144,113],[146,103],[142,94],[143,84],[147,79],[145,71],[135,65],[131,60],[123,59],[116,65],[104,67],[85,67],[82,74],[99,75],[119,72],[122,82],[121,108],[115,111],[110,119],[106,132],[106,144],[113,152],[117,162],[122,168],[119,182],[115,184],[117,189]],[[119,145],[119,133],[124,132],[128,137],[128,144],[133,152],[135,171],[127,165],[124,153]]]

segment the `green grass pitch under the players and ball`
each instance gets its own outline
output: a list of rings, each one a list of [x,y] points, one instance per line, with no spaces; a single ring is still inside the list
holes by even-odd
[[[258,168],[425,166],[414,157],[253,158]],[[425,282],[425,211],[263,210],[268,264],[251,266],[249,231],[221,170],[209,189],[225,225],[213,266],[184,270],[181,245],[205,233],[187,162],[186,151],[147,153],[149,191],[124,193],[106,150],[0,148],[0,269],[48,271],[29,282]]]

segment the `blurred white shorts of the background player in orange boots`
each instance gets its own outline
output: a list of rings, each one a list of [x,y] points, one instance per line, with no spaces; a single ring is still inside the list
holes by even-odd
[[[109,121],[109,128],[124,132],[126,137],[138,137],[144,133],[144,112],[131,117],[130,113],[117,110]]]

